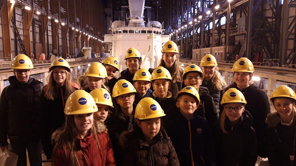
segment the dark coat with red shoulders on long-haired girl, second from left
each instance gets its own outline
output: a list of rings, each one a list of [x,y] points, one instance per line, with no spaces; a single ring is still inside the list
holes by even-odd
[[[75,90],[79,89],[77,84],[72,84]],[[54,93],[58,94],[54,100],[48,100],[46,95],[47,85],[43,87],[41,93],[41,141],[44,153],[47,159],[50,159],[53,145],[51,144],[51,135],[58,128],[62,127],[65,123],[65,103],[64,98],[66,87],[54,87]]]

